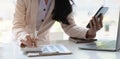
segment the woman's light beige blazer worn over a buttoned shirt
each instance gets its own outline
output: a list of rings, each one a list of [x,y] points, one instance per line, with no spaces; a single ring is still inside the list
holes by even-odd
[[[40,44],[49,43],[49,29],[54,24],[55,20],[52,19],[52,11],[54,9],[55,0],[52,0],[50,9],[44,22],[41,23],[38,30],[38,40]],[[20,42],[26,34],[35,34],[36,19],[38,18],[39,0],[17,0],[16,11],[13,20],[13,34],[15,40]],[[68,17],[70,25],[61,23],[65,33],[71,37],[86,38],[87,29],[76,26],[72,14]]]

